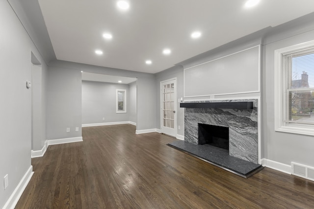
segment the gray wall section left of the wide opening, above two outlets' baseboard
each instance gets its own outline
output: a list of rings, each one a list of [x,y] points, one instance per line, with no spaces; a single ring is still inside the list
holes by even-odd
[[[47,139],[81,137],[82,78],[80,70],[48,68]],[[79,127],[76,132],[75,128]],[[70,132],[66,132],[70,128]]]

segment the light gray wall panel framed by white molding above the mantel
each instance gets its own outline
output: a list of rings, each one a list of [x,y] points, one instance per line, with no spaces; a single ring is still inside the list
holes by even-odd
[[[184,68],[184,97],[260,92],[260,51],[254,46]]]

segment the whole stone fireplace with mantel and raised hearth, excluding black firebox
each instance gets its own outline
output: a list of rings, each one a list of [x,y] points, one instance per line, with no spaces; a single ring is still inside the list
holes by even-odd
[[[184,140],[168,145],[248,178],[263,169],[258,164],[257,99],[198,101],[184,107]],[[229,127],[229,151],[198,142],[198,123]]]

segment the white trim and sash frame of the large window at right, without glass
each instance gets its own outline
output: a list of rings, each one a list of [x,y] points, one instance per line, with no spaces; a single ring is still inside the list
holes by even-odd
[[[284,107],[283,107],[283,72],[282,72],[282,56],[283,54],[292,53],[306,48],[314,47],[314,41],[305,42],[302,44],[288,46],[275,50],[275,131],[303,134],[314,136],[313,125],[305,124],[286,124],[284,122]]]

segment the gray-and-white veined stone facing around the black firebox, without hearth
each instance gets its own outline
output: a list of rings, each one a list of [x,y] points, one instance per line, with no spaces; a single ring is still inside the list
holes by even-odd
[[[229,155],[248,162],[258,163],[257,99],[224,100],[219,102],[241,101],[252,101],[253,109],[184,108],[184,140],[199,144],[198,123],[229,127]]]

